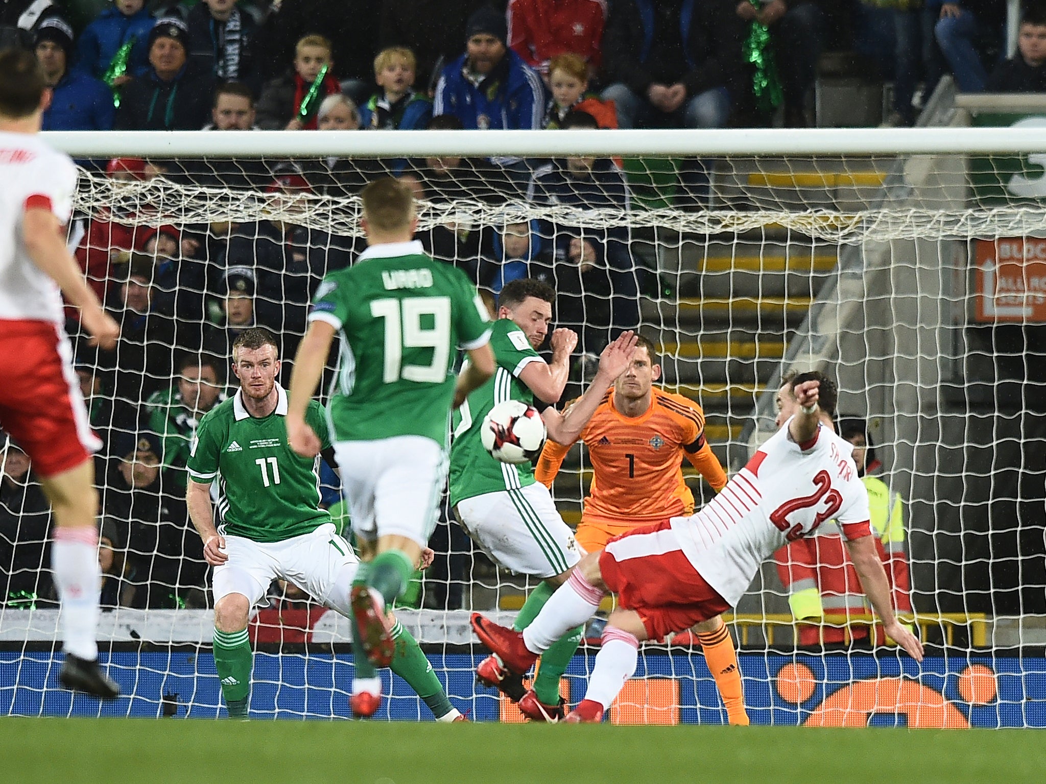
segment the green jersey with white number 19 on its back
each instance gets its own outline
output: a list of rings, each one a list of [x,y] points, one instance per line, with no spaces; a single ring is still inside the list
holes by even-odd
[[[335,440],[426,436],[446,448],[454,400],[455,349],[490,339],[476,287],[422,244],[367,248],[323,279],[310,321],[341,337],[329,412]]]

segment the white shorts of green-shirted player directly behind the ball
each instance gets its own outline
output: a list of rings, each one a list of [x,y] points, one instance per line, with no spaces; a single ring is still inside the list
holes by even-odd
[[[484,553],[517,574],[553,577],[581,560],[574,532],[540,482],[465,499],[454,514]]]

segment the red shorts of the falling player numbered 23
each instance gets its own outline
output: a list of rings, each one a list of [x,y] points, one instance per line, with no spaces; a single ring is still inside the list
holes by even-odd
[[[730,608],[683,554],[670,521],[611,539],[599,556],[599,571],[618,604],[639,614],[651,640]]]

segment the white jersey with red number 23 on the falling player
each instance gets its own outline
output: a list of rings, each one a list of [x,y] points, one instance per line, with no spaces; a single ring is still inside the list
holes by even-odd
[[[852,444],[821,424],[802,446],[786,422],[701,511],[672,518],[683,554],[731,606],[764,560],[823,522],[836,518],[849,539],[870,532]]]

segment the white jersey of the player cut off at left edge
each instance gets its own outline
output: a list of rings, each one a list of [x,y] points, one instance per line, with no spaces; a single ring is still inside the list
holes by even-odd
[[[64,321],[58,284],[25,250],[26,206],[69,223],[76,166],[33,134],[0,133],[0,319]]]

